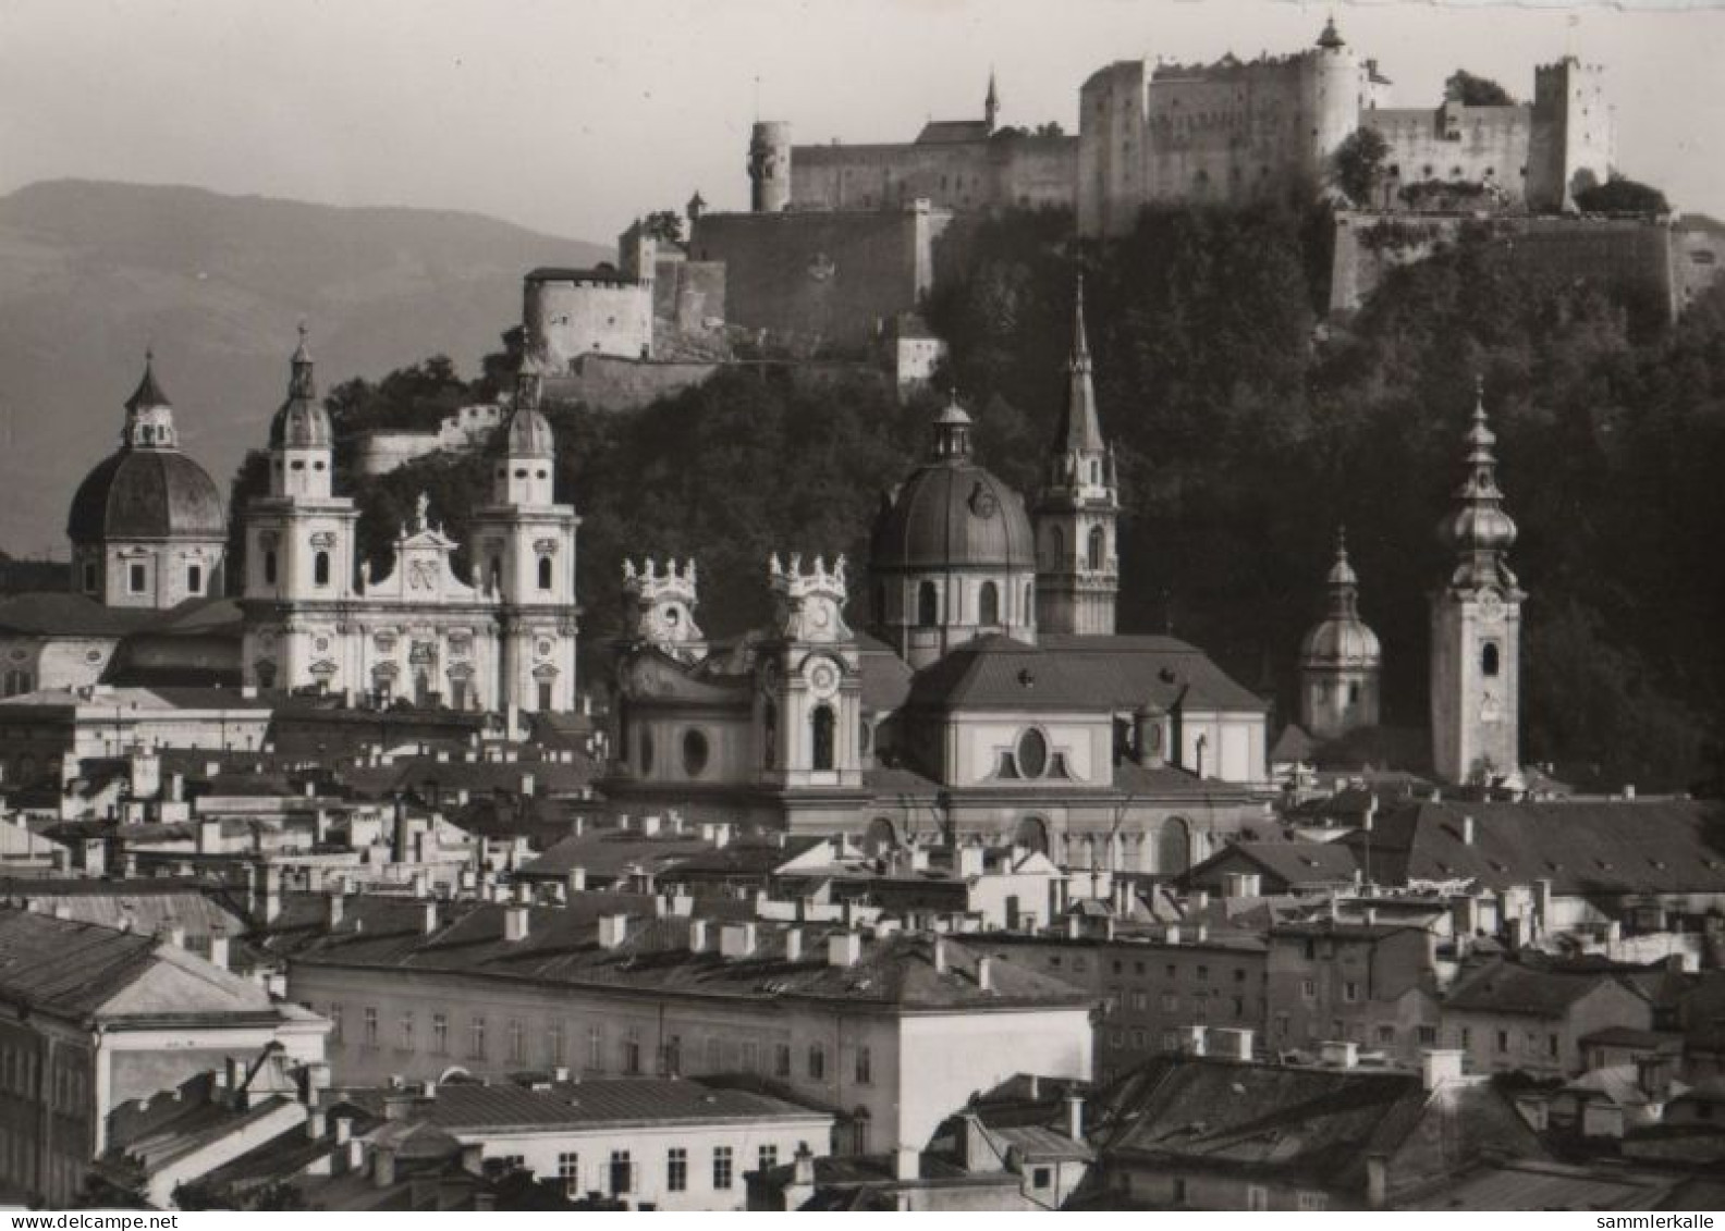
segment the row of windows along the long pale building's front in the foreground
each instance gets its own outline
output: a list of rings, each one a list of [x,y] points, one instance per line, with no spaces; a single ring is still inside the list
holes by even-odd
[[[329,1005],[326,1015],[331,1022],[329,1041],[331,1045],[345,1045],[345,1026],[343,1026],[343,1005]],[[397,1052],[417,1052],[419,1050],[419,1019],[414,1010],[402,1012],[395,1021],[395,1034],[390,1040],[390,1047]],[[459,1028],[455,1028],[459,1029]],[[361,1010],[361,1034],[359,1047],[364,1048],[381,1048],[385,1047],[385,1022],[378,1009],[366,1005]],[[504,1022],[504,1052],[502,1059],[507,1064],[530,1064],[530,1043],[528,1043],[528,1026],[518,1017]],[[638,1026],[626,1026],[621,1038],[616,1041],[616,1062],[618,1071],[624,1076],[642,1076],[649,1072],[649,1062],[652,1071],[659,1076],[678,1078],[685,1072],[685,1064],[690,1062],[697,1053],[693,1045],[685,1048],[685,1040],[681,1034],[668,1034],[664,1041],[657,1047],[657,1055],[652,1055],[649,1045],[643,1043],[642,1029]],[[550,1067],[564,1067],[571,1064],[576,1052],[585,1045],[583,1057],[585,1067],[590,1072],[605,1072],[605,1031],[597,1022],[586,1028],[585,1038],[580,1038],[562,1022],[552,1022],[545,1028],[543,1034],[543,1062]],[[850,1052],[850,1079],[859,1086],[868,1086],[875,1083],[875,1057],[868,1045],[857,1045],[849,1048]],[[443,1012],[435,1012],[430,1015],[430,1053],[438,1057],[455,1057],[474,1062],[488,1062],[492,1059],[492,1033],[490,1019],[471,1017],[466,1026],[466,1038],[452,1038],[450,1015]],[[775,1078],[792,1079],[799,1074],[795,1072],[795,1052],[790,1043],[762,1043],[761,1040],[740,1040],[728,1043],[726,1040],[712,1034],[706,1041],[706,1057],[702,1064],[702,1072],[769,1072]],[[802,1076],[809,1081],[826,1081],[828,1074],[828,1047],[825,1043],[809,1043],[804,1052]]]

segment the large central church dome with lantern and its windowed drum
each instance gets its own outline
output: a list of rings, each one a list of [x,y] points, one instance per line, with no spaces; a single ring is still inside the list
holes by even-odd
[[[881,498],[871,536],[871,619],[913,667],[990,633],[1037,640],[1037,560],[1023,498],[971,457],[957,395],[928,459]]]

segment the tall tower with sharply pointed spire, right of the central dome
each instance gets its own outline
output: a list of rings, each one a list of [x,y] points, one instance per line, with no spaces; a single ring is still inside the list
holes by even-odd
[[[1037,628],[1109,634],[1120,593],[1116,531],[1120,483],[1102,441],[1083,324],[1083,276],[1066,360],[1066,405],[1033,507],[1037,522]]]

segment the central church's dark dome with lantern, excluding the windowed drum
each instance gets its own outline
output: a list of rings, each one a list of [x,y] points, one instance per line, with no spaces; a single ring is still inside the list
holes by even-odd
[[[875,521],[875,569],[1037,567],[1023,498],[971,460],[971,417],[956,402],[935,421],[935,447]]]

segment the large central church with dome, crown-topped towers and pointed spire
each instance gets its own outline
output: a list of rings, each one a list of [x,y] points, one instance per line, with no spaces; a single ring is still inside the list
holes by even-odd
[[[1268,705],[1183,641],[1114,633],[1120,500],[1082,288],[1066,372],[1030,502],[976,460],[964,409],[940,410],[876,516],[864,629],[844,559],[771,559],[771,622],[724,640],[699,626],[693,562],[626,564],[616,807],[1144,872],[1263,821]]]

